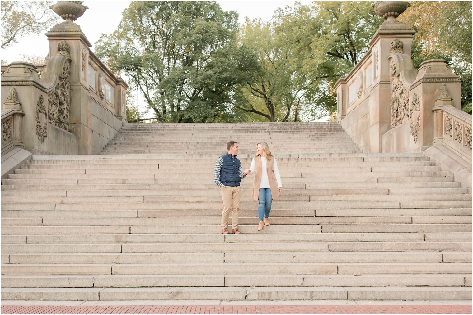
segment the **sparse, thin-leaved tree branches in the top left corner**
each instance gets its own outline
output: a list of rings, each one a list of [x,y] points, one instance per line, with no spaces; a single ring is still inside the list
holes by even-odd
[[[49,8],[52,4],[53,1],[1,1],[1,48],[57,23],[59,17]]]

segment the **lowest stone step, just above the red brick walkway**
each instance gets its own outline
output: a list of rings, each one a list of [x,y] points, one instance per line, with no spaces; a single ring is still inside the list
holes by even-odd
[[[468,300],[465,287],[2,288],[3,300]]]

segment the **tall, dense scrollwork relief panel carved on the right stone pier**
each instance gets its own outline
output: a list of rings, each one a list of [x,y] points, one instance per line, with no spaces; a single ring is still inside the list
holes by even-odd
[[[409,90],[396,75],[396,64],[391,59],[391,128],[407,121],[409,106]]]

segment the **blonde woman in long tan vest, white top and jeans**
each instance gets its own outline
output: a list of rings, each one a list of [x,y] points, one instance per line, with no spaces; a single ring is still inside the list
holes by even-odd
[[[251,166],[245,172],[254,173],[253,194],[251,198],[258,200],[258,231],[264,225],[270,225],[268,216],[271,211],[273,199],[278,198],[278,191],[282,190],[281,177],[276,159],[271,155],[268,144],[259,142],[256,145],[256,156],[251,161]],[[279,189],[278,189],[279,188]]]

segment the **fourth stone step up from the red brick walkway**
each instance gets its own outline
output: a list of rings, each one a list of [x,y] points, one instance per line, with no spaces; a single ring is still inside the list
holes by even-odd
[[[297,244],[297,243],[295,243]],[[3,255],[7,253],[2,253]],[[173,264],[173,263],[440,263],[470,262],[471,252],[294,251],[163,253],[15,253],[9,264]],[[469,256],[469,257],[468,257]]]

